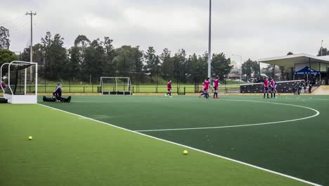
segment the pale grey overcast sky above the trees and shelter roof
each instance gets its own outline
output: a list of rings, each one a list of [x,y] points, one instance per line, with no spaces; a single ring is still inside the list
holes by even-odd
[[[212,53],[258,60],[295,54],[316,55],[329,47],[329,0],[215,0],[212,8]],[[36,11],[33,43],[47,31],[65,38],[109,36],[115,47],[155,46],[203,54],[208,48],[207,0],[1,0],[0,25],[11,31],[12,51],[30,44],[30,17]],[[239,60],[237,60],[239,61]]]

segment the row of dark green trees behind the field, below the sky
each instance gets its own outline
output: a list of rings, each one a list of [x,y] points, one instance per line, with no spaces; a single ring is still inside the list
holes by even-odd
[[[47,80],[82,80],[89,82],[92,75],[97,82],[101,76],[131,77],[132,81],[154,83],[176,80],[182,83],[201,82],[207,77],[207,52],[187,55],[184,49],[172,52],[163,49],[157,54],[153,46],[147,51],[139,46],[113,46],[113,39],[90,40],[79,35],[74,46],[64,47],[64,38],[47,32],[41,42],[33,46],[33,61],[43,64],[39,75]],[[30,48],[24,49],[22,61],[30,61]],[[231,59],[223,53],[212,54],[212,76],[224,79],[230,73]]]

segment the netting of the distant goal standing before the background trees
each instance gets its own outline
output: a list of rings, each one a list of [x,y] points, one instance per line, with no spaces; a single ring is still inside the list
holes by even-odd
[[[101,77],[102,95],[130,95],[130,77]]]

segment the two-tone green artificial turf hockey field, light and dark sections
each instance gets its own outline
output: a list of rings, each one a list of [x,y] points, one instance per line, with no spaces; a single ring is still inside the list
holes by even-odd
[[[329,97],[99,96],[41,104],[329,185]],[[0,185],[305,184],[41,105],[0,108]]]

